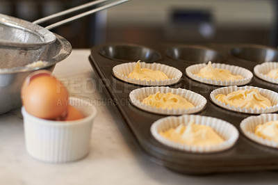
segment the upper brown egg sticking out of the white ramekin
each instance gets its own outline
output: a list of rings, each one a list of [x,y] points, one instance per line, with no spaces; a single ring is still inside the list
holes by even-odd
[[[25,110],[38,118],[55,120],[65,114],[68,98],[63,83],[46,70],[31,73],[22,86]]]

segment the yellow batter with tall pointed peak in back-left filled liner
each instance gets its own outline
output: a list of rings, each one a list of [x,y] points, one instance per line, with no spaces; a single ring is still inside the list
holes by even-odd
[[[149,70],[147,68],[140,67],[140,61],[138,61],[134,67],[133,72],[129,73],[129,78],[136,80],[167,80],[169,79],[166,74],[158,70]]]

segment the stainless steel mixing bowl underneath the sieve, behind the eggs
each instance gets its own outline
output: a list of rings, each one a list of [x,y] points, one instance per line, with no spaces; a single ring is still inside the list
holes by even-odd
[[[33,49],[0,47],[0,114],[22,105],[20,90],[24,79],[35,70],[53,71],[56,63],[72,52],[70,42],[60,35],[51,45]],[[42,67],[26,67],[35,61],[46,61]]]

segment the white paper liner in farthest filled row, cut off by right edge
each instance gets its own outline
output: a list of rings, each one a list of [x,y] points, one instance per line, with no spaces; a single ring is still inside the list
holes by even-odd
[[[259,77],[260,79],[263,79],[265,81],[268,81],[270,83],[277,83],[278,84],[278,79],[273,79],[266,74],[270,72],[270,70],[278,69],[278,63],[263,63],[260,65],[256,65],[254,67],[254,73],[256,74],[256,77]]]

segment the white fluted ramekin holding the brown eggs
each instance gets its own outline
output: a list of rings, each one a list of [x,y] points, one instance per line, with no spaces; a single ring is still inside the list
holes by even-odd
[[[70,97],[69,103],[85,118],[67,122],[44,120],[30,115],[22,106],[26,150],[35,159],[63,163],[76,161],[88,154],[97,110],[83,99]]]

